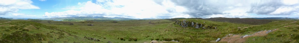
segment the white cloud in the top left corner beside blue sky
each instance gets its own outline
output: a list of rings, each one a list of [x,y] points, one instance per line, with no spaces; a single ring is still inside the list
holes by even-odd
[[[33,2],[30,0],[1,0],[0,15],[15,13],[19,11],[19,9],[40,9],[31,3]]]

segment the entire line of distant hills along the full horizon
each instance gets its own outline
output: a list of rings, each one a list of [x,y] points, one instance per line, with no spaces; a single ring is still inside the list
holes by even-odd
[[[257,19],[271,19],[271,20],[289,20],[289,19],[298,19],[299,17],[253,17],[253,18],[225,18],[225,17],[215,17],[215,18],[194,18],[194,19],[204,19],[204,20],[213,20],[213,21],[231,21],[231,20],[257,20]],[[29,19],[29,18],[4,18],[0,19]],[[144,18],[144,19],[132,19],[124,17],[103,17],[103,16],[87,16],[87,17],[54,17],[54,18],[39,18],[40,20],[56,20],[56,21],[84,21],[84,20],[156,20],[155,18]],[[177,19],[184,18],[172,18],[167,20],[175,21]]]

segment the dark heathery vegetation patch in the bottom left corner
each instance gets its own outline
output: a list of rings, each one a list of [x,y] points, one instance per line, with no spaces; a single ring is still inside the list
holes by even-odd
[[[41,43],[40,41],[46,40],[47,35],[44,34],[28,34],[23,31],[16,31],[11,34],[2,34],[1,43]]]

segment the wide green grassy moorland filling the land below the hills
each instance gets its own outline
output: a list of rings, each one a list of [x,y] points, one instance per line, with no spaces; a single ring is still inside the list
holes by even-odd
[[[0,33],[2,34],[0,35],[0,43],[144,43],[151,42],[151,40],[175,40],[179,41],[179,43],[214,43],[217,38],[225,37],[227,34],[246,35],[272,29],[278,29],[278,31],[271,32],[267,36],[249,37],[245,42],[299,42],[299,33],[297,32],[299,29],[298,20],[278,20],[261,25],[192,18],[179,20],[194,21],[204,24],[204,27],[213,26],[217,28],[183,28],[176,25],[174,20],[166,19],[93,22],[35,19],[0,20]],[[90,24],[93,26],[89,26]]]

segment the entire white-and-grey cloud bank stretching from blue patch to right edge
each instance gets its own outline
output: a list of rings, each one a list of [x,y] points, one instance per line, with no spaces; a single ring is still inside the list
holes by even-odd
[[[64,12],[45,12],[43,17],[244,18],[253,17],[248,14],[298,15],[298,5],[298,0],[96,0],[67,6]]]

